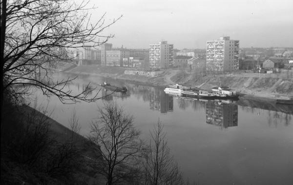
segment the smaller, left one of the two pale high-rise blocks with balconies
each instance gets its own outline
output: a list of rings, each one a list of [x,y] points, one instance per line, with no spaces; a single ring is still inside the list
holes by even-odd
[[[159,44],[149,44],[149,68],[169,68],[173,62],[173,44],[160,41]]]

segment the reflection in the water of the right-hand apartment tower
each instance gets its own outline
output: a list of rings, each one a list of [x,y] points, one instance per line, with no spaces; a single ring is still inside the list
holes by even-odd
[[[238,126],[238,106],[234,103],[208,101],[206,123],[228,128]]]

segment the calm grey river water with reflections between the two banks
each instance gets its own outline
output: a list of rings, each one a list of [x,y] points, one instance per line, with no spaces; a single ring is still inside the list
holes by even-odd
[[[56,73],[54,79],[75,77]],[[69,87],[81,92],[90,82],[92,88],[107,81],[126,86],[126,94],[114,93],[104,101],[120,103],[134,116],[142,138],[149,141],[149,130],[164,124],[170,152],[189,182],[200,185],[292,185],[293,184],[293,106],[250,100],[217,102],[170,96],[162,87],[150,87],[102,77],[79,76]],[[98,96],[111,91],[101,88]],[[89,124],[97,117],[95,103],[63,104],[58,98],[37,93],[38,104],[47,106],[51,117],[68,126],[75,109],[82,127],[89,134]]]

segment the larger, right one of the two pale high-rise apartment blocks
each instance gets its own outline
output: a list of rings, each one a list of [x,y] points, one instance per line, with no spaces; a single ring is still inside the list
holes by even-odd
[[[239,41],[230,37],[220,37],[217,41],[207,41],[207,70],[238,70]]]

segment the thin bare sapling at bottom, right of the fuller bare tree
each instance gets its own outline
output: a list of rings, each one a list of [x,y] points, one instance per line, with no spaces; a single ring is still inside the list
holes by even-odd
[[[180,185],[184,184],[182,173],[167,146],[166,132],[163,132],[160,120],[150,132],[151,141],[144,153],[146,185]],[[153,143],[152,143],[153,142]]]

